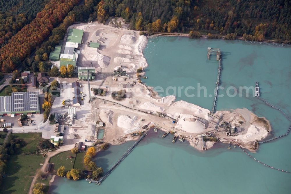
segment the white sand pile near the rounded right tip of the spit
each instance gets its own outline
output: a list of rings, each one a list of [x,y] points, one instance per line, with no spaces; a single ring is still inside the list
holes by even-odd
[[[265,127],[251,124],[246,134],[237,135],[235,138],[238,140],[255,141],[255,140],[262,140],[265,137],[267,137],[267,135],[268,135],[268,131],[266,130]]]

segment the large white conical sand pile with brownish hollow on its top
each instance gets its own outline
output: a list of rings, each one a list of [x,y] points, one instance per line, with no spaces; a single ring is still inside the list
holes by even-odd
[[[205,130],[205,124],[195,119],[193,115],[180,114],[180,118],[178,119],[175,128],[182,129],[188,133],[201,133]]]

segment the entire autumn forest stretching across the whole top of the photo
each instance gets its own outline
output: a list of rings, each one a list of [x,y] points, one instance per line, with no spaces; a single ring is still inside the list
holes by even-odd
[[[122,17],[131,29],[150,33],[190,32],[190,38],[206,34],[208,38],[241,36],[246,40],[291,43],[289,0],[85,0],[77,5],[78,2],[0,2],[1,71],[11,72],[21,63],[24,70],[48,71],[51,64],[45,61],[49,53],[73,22],[97,20],[105,24],[110,16]],[[34,49],[36,57],[31,60],[28,56]],[[52,74],[56,75],[55,69]]]

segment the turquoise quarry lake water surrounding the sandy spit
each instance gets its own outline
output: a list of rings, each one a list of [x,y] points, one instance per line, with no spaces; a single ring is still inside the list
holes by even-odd
[[[261,97],[291,115],[290,48],[238,40],[150,38],[144,50],[149,64],[148,79],[143,81],[164,90],[168,86],[197,88],[200,83],[206,87],[207,97],[197,97],[194,89],[189,90],[194,97],[186,97],[182,92],[177,100],[211,109],[213,98],[209,95],[214,93],[218,66],[215,56],[207,60],[207,47],[222,51],[222,87],[238,89],[253,86],[258,81]],[[217,110],[246,107],[270,121],[273,130],[270,137],[286,133],[289,121],[252,95],[245,97],[243,92],[243,97],[228,97],[226,89],[221,89],[219,94],[224,96],[218,98]],[[84,180],[57,178],[50,193],[291,193],[291,174],[265,167],[239,148],[228,150],[227,144],[219,143],[199,152],[187,142],[173,144],[171,135],[163,139],[161,135],[161,131],[150,132],[100,186]],[[290,140],[291,134],[262,144],[252,155],[267,165],[291,171]],[[99,152],[95,158],[97,166],[106,171],[133,143],[110,146]]]

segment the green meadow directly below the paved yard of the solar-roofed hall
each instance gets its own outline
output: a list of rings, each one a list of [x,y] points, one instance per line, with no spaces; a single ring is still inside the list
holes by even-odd
[[[13,133],[13,139],[22,139],[27,143],[27,145],[19,149],[16,154],[35,154],[41,136],[42,133]]]

